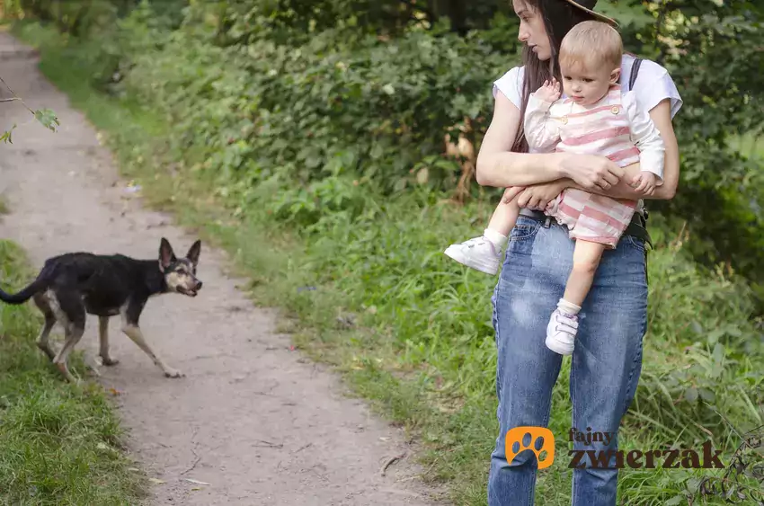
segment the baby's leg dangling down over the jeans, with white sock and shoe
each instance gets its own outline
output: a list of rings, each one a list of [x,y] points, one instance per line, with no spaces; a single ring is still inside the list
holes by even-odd
[[[563,298],[546,325],[546,347],[561,355],[573,353],[578,331],[578,313],[594,281],[594,273],[607,246],[576,239],[573,250],[573,270],[568,276]]]

